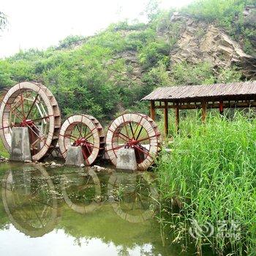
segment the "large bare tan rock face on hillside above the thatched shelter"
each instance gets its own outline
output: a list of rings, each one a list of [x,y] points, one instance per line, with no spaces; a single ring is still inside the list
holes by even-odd
[[[214,24],[203,23],[175,12],[170,18],[179,26],[179,37],[170,51],[171,63],[209,61],[214,67],[241,67],[246,77],[256,77],[256,59],[244,53],[241,46]]]

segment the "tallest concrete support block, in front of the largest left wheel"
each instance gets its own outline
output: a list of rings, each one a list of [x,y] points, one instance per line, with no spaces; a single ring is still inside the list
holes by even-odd
[[[31,161],[31,151],[29,145],[29,128],[13,127],[12,142],[10,151],[11,161]]]

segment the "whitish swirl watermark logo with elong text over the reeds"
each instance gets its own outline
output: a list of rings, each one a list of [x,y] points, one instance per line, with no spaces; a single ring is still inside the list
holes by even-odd
[[[231,220],[219,220],[217,225],[212,225],[210,222],[199,224],[197,220],[191,220],[189,234],[192,238],[206,238],[216,236],[219,238],[234,238],[237,241],[241,239],[241,225],[239,222]]]

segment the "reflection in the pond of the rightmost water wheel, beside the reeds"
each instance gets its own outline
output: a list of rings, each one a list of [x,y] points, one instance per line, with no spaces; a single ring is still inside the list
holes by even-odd
[[[128,222],[145,222],[157,209],[157,190],[148,173],[113,173],[108,197],[116,214]]]

